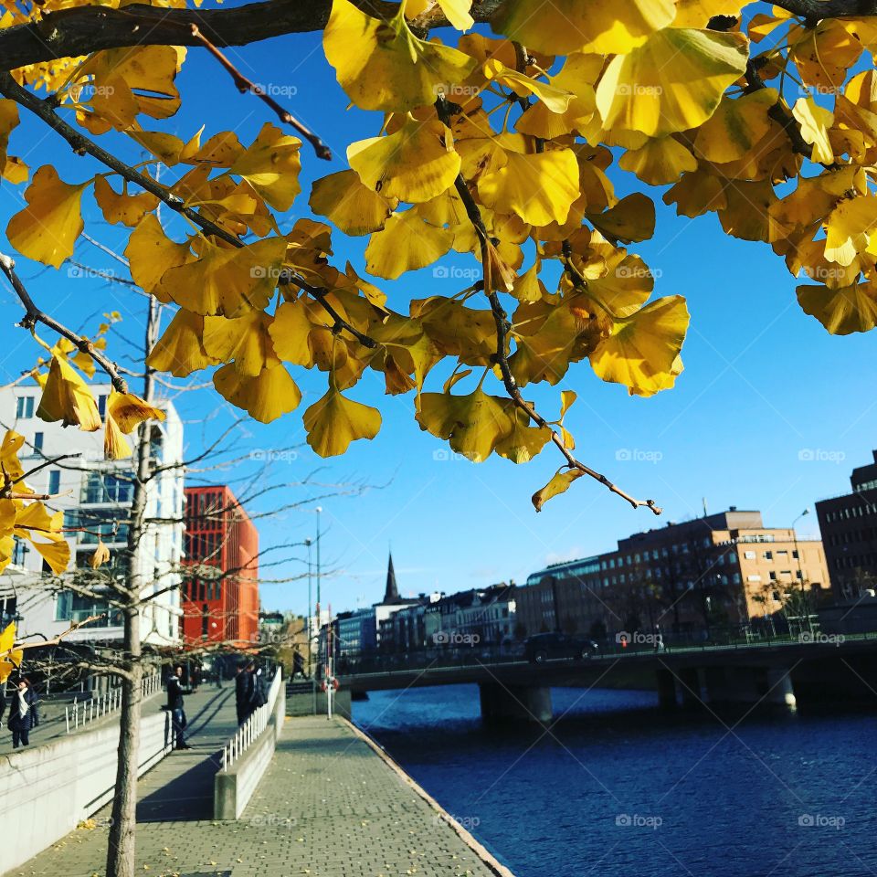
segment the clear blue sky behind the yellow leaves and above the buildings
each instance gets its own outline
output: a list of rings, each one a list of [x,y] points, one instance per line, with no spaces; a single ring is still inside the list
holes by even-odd
[[[291,223],[309,216],[312,179],[342,169],[347,144],[373,136],[380,117],[345,111],[347,99],[323,58],[319,35],[283,37],[229,54],[251,79],[275,90],[294,90],[281,101],[333,150],[335,158],[327,164],[309,147],[301,149],[304,192],[285,218]],[[206,123],[204,139],[232,130],[242,143],[250,143],[264,122],[275,121],[259,100],[239,95],[204,52],[190,50],[178,84],[185,109],[152,127],[188,139]],[[127,141],[119,143],[124,143],[124,157],[140,158]],[[27,118],[13,134],[10,153],[32,169],[57,164],[67,182],[99,170],[90,159],[69,153],[54,132]],[[622,195],[638,182],[611,169],[610,176]],[[8,217],[22,204],[24,187],[16,191],[4,182],[2,188],[0,228],[5,231]],[[578,394],[567,426],[576,435],[580,458],[631,493],[655,499],[664,515],[634,511],[596,482],[584,480],[536,514],[530,495],[554,473],[558,455],[546,449],[524,466],[497,458],[480,465],[449,460],[446,446],[417,427],[413,398],[383,396],[383,378],[371,372],[352,396],[381,409],[381,433],[372,442],[356,442],[342,459],[319,460],[303,445],[301,412],[322,395],[325,377],[294,373],[305,393],[300,409],[269,426],[250,423],[243,447],[301,446],[294,460],[272,463],[270,479],[292,485],[269,494],[282,495],[283,502],[318,492],[292,483],[308,477],[373,485],[359,495],[320,503],[327,527],[323,564],[334,570],[324,580],[323,594],[333,608],[355,608],[381,597],[390,544],[405,594],[435,588],[450,592],[509,578],[520,582],[547,562],[604,551],[619,537],[700,514],[703,498],[710,511],[731,504],[760,509],[768,525],[787,526],[805,507],[812,508],[814,500],[845,491],[851,467],[871,460],[871,449],[877,447],[877,335],[830,336],[799,309],[798,281],[766,245],[726,238],[713,215],[675,217],[657,195],[655,237],[631,250],[658,275],[657,295],[681,293],[689,301],[692,328],[682,350],[685,371],[675,389],[650,399],[629,397],[623,387],[604,384],[586,363],[574,366],[562,387]],[[104,223],[90,195],[84,203],[86,230],[121,250],[127,231]],[[5,238],[3,246],[7,248]],[[335,259],[343,266],[349,258],[363,271],[364,247],[365,240],[351,244],[339,234]],[[84,240],[75,258],[96,268],[113,267],[111,259]],[[118,308],[125,317],[123,331],[140,336],[142,298],[101,280],[71,278],[66,267],[56,271],[24,259],[19,264],[37,302],[60,319],[80,325],[92,313]],[[467,269],[476,263],[451,254],[445,264]],[[389,294],[390,306],[398,309],[405,309],[412,295],[457,291],[453,281],[435,279],[431,269],[377,282]],[[5,381],[32,364],[37,348],[14,328],[21,312],[5,284],[0,309],[5,326],[0,379]],[[124,362],[125,344],[117,340],[111,353]],[[532,396],[555,410],[559,389]],[[191,451],[234,416],[212,389],[179,396],[176,404],[190,421],[186,435]],[[801,459],[808,456],[815,459]],[[217,481],[239,479],[248,471],[245,465],[227,476],[217,473]],[[266,511],[268,504],[267,499],[254,503],[253,511]],[[314,524],[309,511],[265,519],[260,522],[262,545],[303,539],[312,535]],[[816,533],[815,515],[802,520],[799,529]],[[268,575],[300,573],[303,551],[298,561],[291,559]],[[302,611],[307,605],[305,583],[265,585],[262,600],[266,608]]]

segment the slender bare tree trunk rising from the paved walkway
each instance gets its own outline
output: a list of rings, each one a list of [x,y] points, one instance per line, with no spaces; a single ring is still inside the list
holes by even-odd
[[[159,328],[159,305],[149,301],[146,320],[145,347],[148,355],[153,349]],[[147,367],[143,378],[143,398],[153,401],[153,375]],[[119,719],[119,753],[116,766],[116,789],[112,802],[112,823],[107,848],[107,877],[134,877],[134,855],[137,832],[137,766],[140,763],[140,711],[143,699],[143,648],[141,642],[141,599],[143,575],[143,519],[146,516],[147,488],[150,462],[149,421],[143,422],[137,432],[137,471],[131,503],[131,523],[128,528],[129,587],[125,595],[124,639],[122,666],[127,671],[122,677],[122,714]]]

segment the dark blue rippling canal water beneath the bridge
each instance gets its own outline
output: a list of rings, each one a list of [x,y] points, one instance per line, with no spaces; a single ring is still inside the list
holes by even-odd
[[[877,716],[553,693],[549,733],[482,726],[466,685],[375,692],[354,721],[517,877],[877,875]]]

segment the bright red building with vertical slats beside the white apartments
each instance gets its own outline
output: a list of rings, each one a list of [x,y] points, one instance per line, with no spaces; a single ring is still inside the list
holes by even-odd
[[[259,629],[259,531],[225,485],[185,489],[183,639],[253,642]]]

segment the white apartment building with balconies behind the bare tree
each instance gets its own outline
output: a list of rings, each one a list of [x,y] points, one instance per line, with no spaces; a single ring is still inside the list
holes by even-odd
[[[103,417],[111,386],[90,385]],[[48,465],[27,477],[37,493],[60,494],[45,504],[52,511],[64,512],[65,527],[81,527],[87,532],[68,534],[71,564],[89,567],[90,556],[100,539],[110,548],[109,565],[101,566],[112,576],[129,575],[127,524],[132,501],[133,459],[104,460],[103,430],[83,432],[62,427],[37,417],[40,390],[21,385],[0,390],[0,429],[12,428],[25,437],[20,456],[25,471],[63,454],[79,454],[69,460]],[[170,402],[157,402],[165,419],[152,423],[151,457],[156,468],[178,464],[183,454],[183,426]],[[131,439],[133,446],[133,438]],[[140,555],[144,596],[155,593],[153,601],[141,610],[142,637],[154,646],[180,642],[180,558],[183,553],[183,480],[181,466],[162,469],[148,482],[147,518],[172,518],[175,523],[148,524]],[[61,576],[72,576],[65,573]],[[48,581],[47,581],[48,579]],[[53,581],[53,584],[49,584]],[[170,588],[165,590],[166,588]],[[164,593],[158,593],[163,591]],[[103,615],[69,635],[69,641],[111,643],[122,639],[122,618],[118,609],[104,599],[86,597],[58,588],[42,557],[24,541],[16,541],[13,562],[0,575],[2,621],[16,620],[19,637],[52,639],[69,629],[72,622]],[[33,640],[32,640],[33,641]]]

